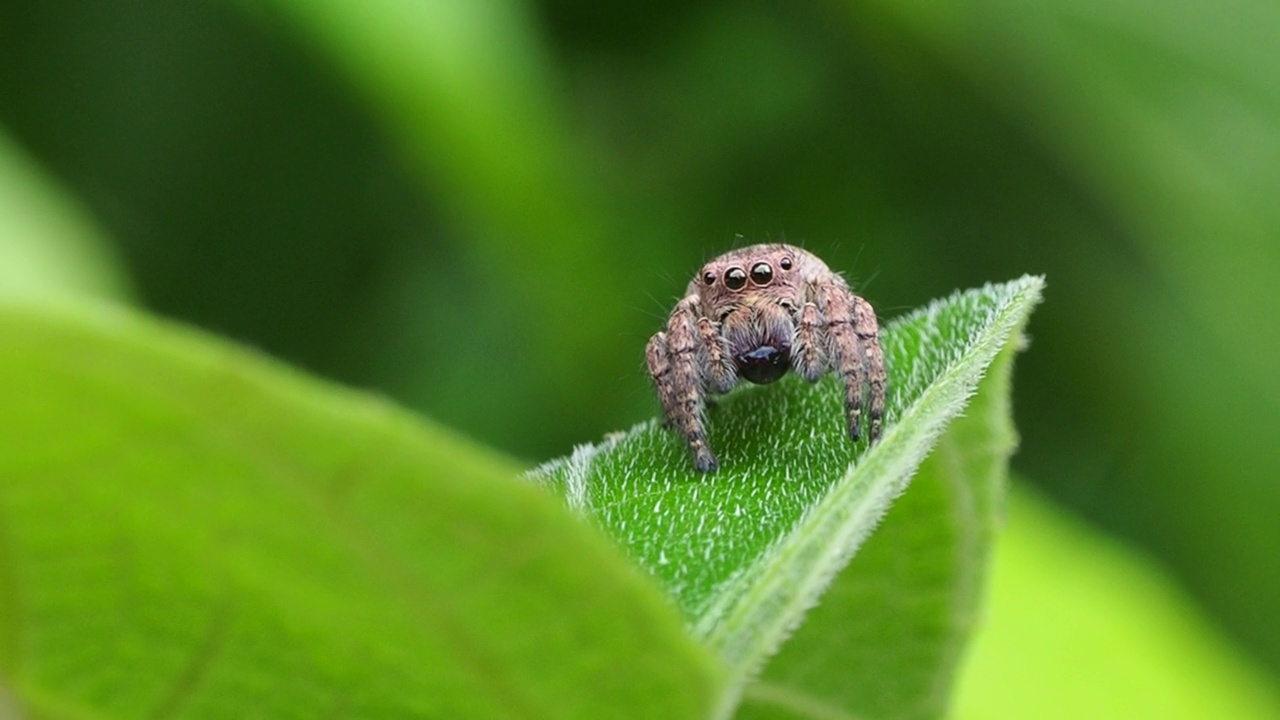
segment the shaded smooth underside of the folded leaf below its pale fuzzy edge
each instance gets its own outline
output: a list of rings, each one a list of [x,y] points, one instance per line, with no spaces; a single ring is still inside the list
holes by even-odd
[[[1018,445],[1007,343],[876,533],[749,685],[750,717],[940,717],[978,623]]]

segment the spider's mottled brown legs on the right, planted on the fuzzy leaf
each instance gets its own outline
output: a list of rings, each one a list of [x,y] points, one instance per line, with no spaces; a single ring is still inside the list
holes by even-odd
[[[870,304],[854,295],[842,282],[815,287],[818,309],[824,320],[831,365],[845,384],[845,411],[849,437],[856,441],[861,419],[864,386],[870,388],[872,442],[879,438],[884,415],[884,354],[879,345],[879,323]]]

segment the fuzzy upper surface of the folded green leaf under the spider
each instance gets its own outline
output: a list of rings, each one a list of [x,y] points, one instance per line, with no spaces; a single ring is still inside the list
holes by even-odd
[[[849,443],[833,378],[791,379],[744,388],[710,413],[714,475],[696,474],[681,441],[650,421],[535,477],[667,585],[741,684],[818,602],[1016,342],[1042,287],[1033,277],[987,286],[891,323],[887,424],[870,450]]]

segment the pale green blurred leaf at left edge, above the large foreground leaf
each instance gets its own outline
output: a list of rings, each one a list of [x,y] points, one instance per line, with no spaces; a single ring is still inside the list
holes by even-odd
[[[0,296],[120,300],[127,286],[88,213],[0,132]]]

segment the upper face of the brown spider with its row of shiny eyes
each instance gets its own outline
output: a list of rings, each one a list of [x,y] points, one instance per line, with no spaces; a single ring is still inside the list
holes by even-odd
[[[800,273],[806,258],[790,245],[742,247],[704,265],[689,291],[698,292],[704,314],[714,320],[763,304],[797,307],[804,304]]]

